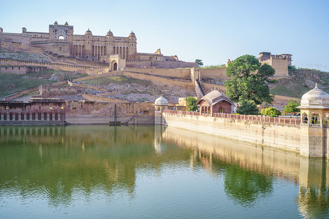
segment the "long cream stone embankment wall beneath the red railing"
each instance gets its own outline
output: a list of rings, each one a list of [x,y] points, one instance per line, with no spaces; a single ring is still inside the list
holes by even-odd
[[[299,153],[300,126],[210,116],[155,113],[155,124],[188,129]]]

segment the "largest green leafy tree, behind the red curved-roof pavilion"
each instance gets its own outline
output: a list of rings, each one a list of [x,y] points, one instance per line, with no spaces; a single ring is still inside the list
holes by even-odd
[[[270,79],[275,70],[268,64],[261,64],[253,55],[242,55],[228,63],[224,82],[226,95],[234,102],[254,100],[256,104],[272,103],[274,95],[269,93],[267,84],[276,83]]]

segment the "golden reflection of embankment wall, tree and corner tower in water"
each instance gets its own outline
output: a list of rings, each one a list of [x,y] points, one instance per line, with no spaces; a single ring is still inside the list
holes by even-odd
[[[211,174],[216,165],[225,168],[224,186],[229,198],[253,206],[273,189],[272,179],[299,183],[296,203],[306,218],[326,218],[329,212],[329,165],[326,159],[301,157],[296,153],[166,126],[164,142],[194,148],[190,163],[200,163]],[[192,154],[191,154],[192,155]],[[241,192],[242,191],[242,192]]]

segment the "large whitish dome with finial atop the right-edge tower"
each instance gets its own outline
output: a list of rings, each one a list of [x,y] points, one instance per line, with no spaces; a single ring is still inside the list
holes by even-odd
[[[302,99],[300,100],[300,106],[297,108],[303,109],[324,109],[329,108],[329,94],[317,87],[317,83],[315,84],[315,88],[306,92]]]

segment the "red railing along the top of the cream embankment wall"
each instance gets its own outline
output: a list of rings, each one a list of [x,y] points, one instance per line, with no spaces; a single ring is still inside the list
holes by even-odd
[[[164,110],[164,113],[175,113],[180,115],[193,115],[200,116],[199,112],[189,112],[189,111],[176,111],[176,110]],[[210,114],[202,114],[201,116],[211,116]],[[213,117],[227,118],[227,119],[237,119],[237,120],[247,120],[247,121],[260,121],[260,122],[273,122],[282,124],[300,124],[300,119],[295,118],[283,118],[283,117],[266,117],[266,116],[254,116],[254,115],[237,115],[237,114],[227,114],[227,113],[214,113]]]

